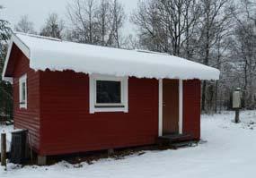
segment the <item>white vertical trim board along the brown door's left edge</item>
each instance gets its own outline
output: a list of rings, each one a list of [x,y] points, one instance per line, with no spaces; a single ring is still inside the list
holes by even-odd
[[[158,136],[163,135],[163,80],[158,80]]]

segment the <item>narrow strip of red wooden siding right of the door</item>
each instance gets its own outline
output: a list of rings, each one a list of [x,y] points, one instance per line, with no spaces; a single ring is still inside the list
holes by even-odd
[[[183,132],[200,139],[200,81],[183,82]]]

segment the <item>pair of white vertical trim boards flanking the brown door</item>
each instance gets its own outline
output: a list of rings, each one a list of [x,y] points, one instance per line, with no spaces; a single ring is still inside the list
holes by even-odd
[[[183,81],[179,80],[179,133],[183,130]],[[163,136],[163,79],[158,80],[158,136]]]

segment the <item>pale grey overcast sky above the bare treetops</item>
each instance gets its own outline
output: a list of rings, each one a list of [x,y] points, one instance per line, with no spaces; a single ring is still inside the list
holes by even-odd
[[[17,23],[24,14],[29,15],[30,21],[33,21],[35,29],[40,30],[42,24],[49,13],[58,13],[61,18],[66,19],[66,5],[72,0],[0,0],[4,10],[0,13],[3,19],[12,24]],[[124,4],[126,13],[131,13],[137,7],[137,0],[119,0]],[[1,18],[2,18],[1,17]],[[129,28],[127,22],[125,28]]]

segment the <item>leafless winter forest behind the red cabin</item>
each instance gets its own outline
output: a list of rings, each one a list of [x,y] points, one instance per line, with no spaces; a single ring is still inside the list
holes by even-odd
[[[0,4],[0,14],[4,9]],[[253,0],[141,0],[126,13],[120,0],[73,0],[63,14],[49,13],[35,30],[30,16],[17,24],[0,16],[0,72],[13,31],[105,47],[177,55],[220,70],[202,81],[202,113],[230,110],[242,90],[243,109],[256,107],[256,2]],[[126,23],[136,27],[129,33]],[[12,85],[0,80],[0,114],[13,117]]]

